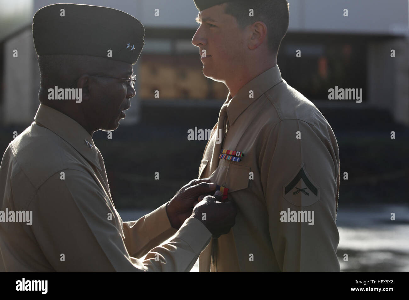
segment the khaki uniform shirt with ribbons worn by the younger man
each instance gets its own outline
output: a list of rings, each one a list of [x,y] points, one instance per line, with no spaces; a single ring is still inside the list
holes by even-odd
[[[278,65],[225,104],[221,148],[244,156],[219,160],[213,134],[199,178],[227,187],[238,214],[231,231],[203,250],[200,271],[339,271],[339,153],[324,116],[281,78]]]

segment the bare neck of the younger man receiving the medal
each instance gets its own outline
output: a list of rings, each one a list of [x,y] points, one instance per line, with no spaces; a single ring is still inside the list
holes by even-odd
[[[253,60],[258,61],[258,60]],[[229,78],[225,81],[226,87],[229,89],[231,97],[236,96],[237,92],[245,86],[245,84],[249,83],[251,80],[256,78],[261,73],[264,73],[268,69],[271,69],[277,64],[277,60],[270,60],[268,62],[261,62],[258,61],[258,64],[252,64],[251,62],[249,65],[243,67],[241,70],[234,73],[234,77]]]

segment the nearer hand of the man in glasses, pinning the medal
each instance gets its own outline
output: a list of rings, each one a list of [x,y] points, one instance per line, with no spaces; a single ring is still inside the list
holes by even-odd
[[[221,201],[221,192],[206,196],[194,208],[192,217],[202,222],[211,232],[213,238],[229,233],[236,223],[237,209],[232,201]]]

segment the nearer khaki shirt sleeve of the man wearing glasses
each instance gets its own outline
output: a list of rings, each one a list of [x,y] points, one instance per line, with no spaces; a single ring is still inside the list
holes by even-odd
[[[189,271],[211,239],[202,222],[188,218],[171,240],[152,246],[145,260],[130,256],[119,216],[103,190],[88,173],[72,169],[63,172],[65,179],[60,173],[51,176],[29,206],[33,211],[31,230],[56,271]],[[155,216],[159,215],[141,219],[155,222]],[[143,231],[152,226],[141,228]],[[146,247],[151,245],[148,238],[134,242],[142,241]]]

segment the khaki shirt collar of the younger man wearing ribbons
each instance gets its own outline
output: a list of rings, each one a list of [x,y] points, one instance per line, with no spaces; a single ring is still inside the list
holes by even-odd
[[[281,81],[283,81],[283,78],[281,78],[279,66],[276,64],[274,67],[247,82],[247,84],[245,84],[233,98],[231,98],[229,93],[225,102],[229,103],[227,106],[227,118],[229,118],[229,124],[233,124],[238,116],[240,116],[250,104]],[[253,98],[249,98],[249,91],[253,91]]]

